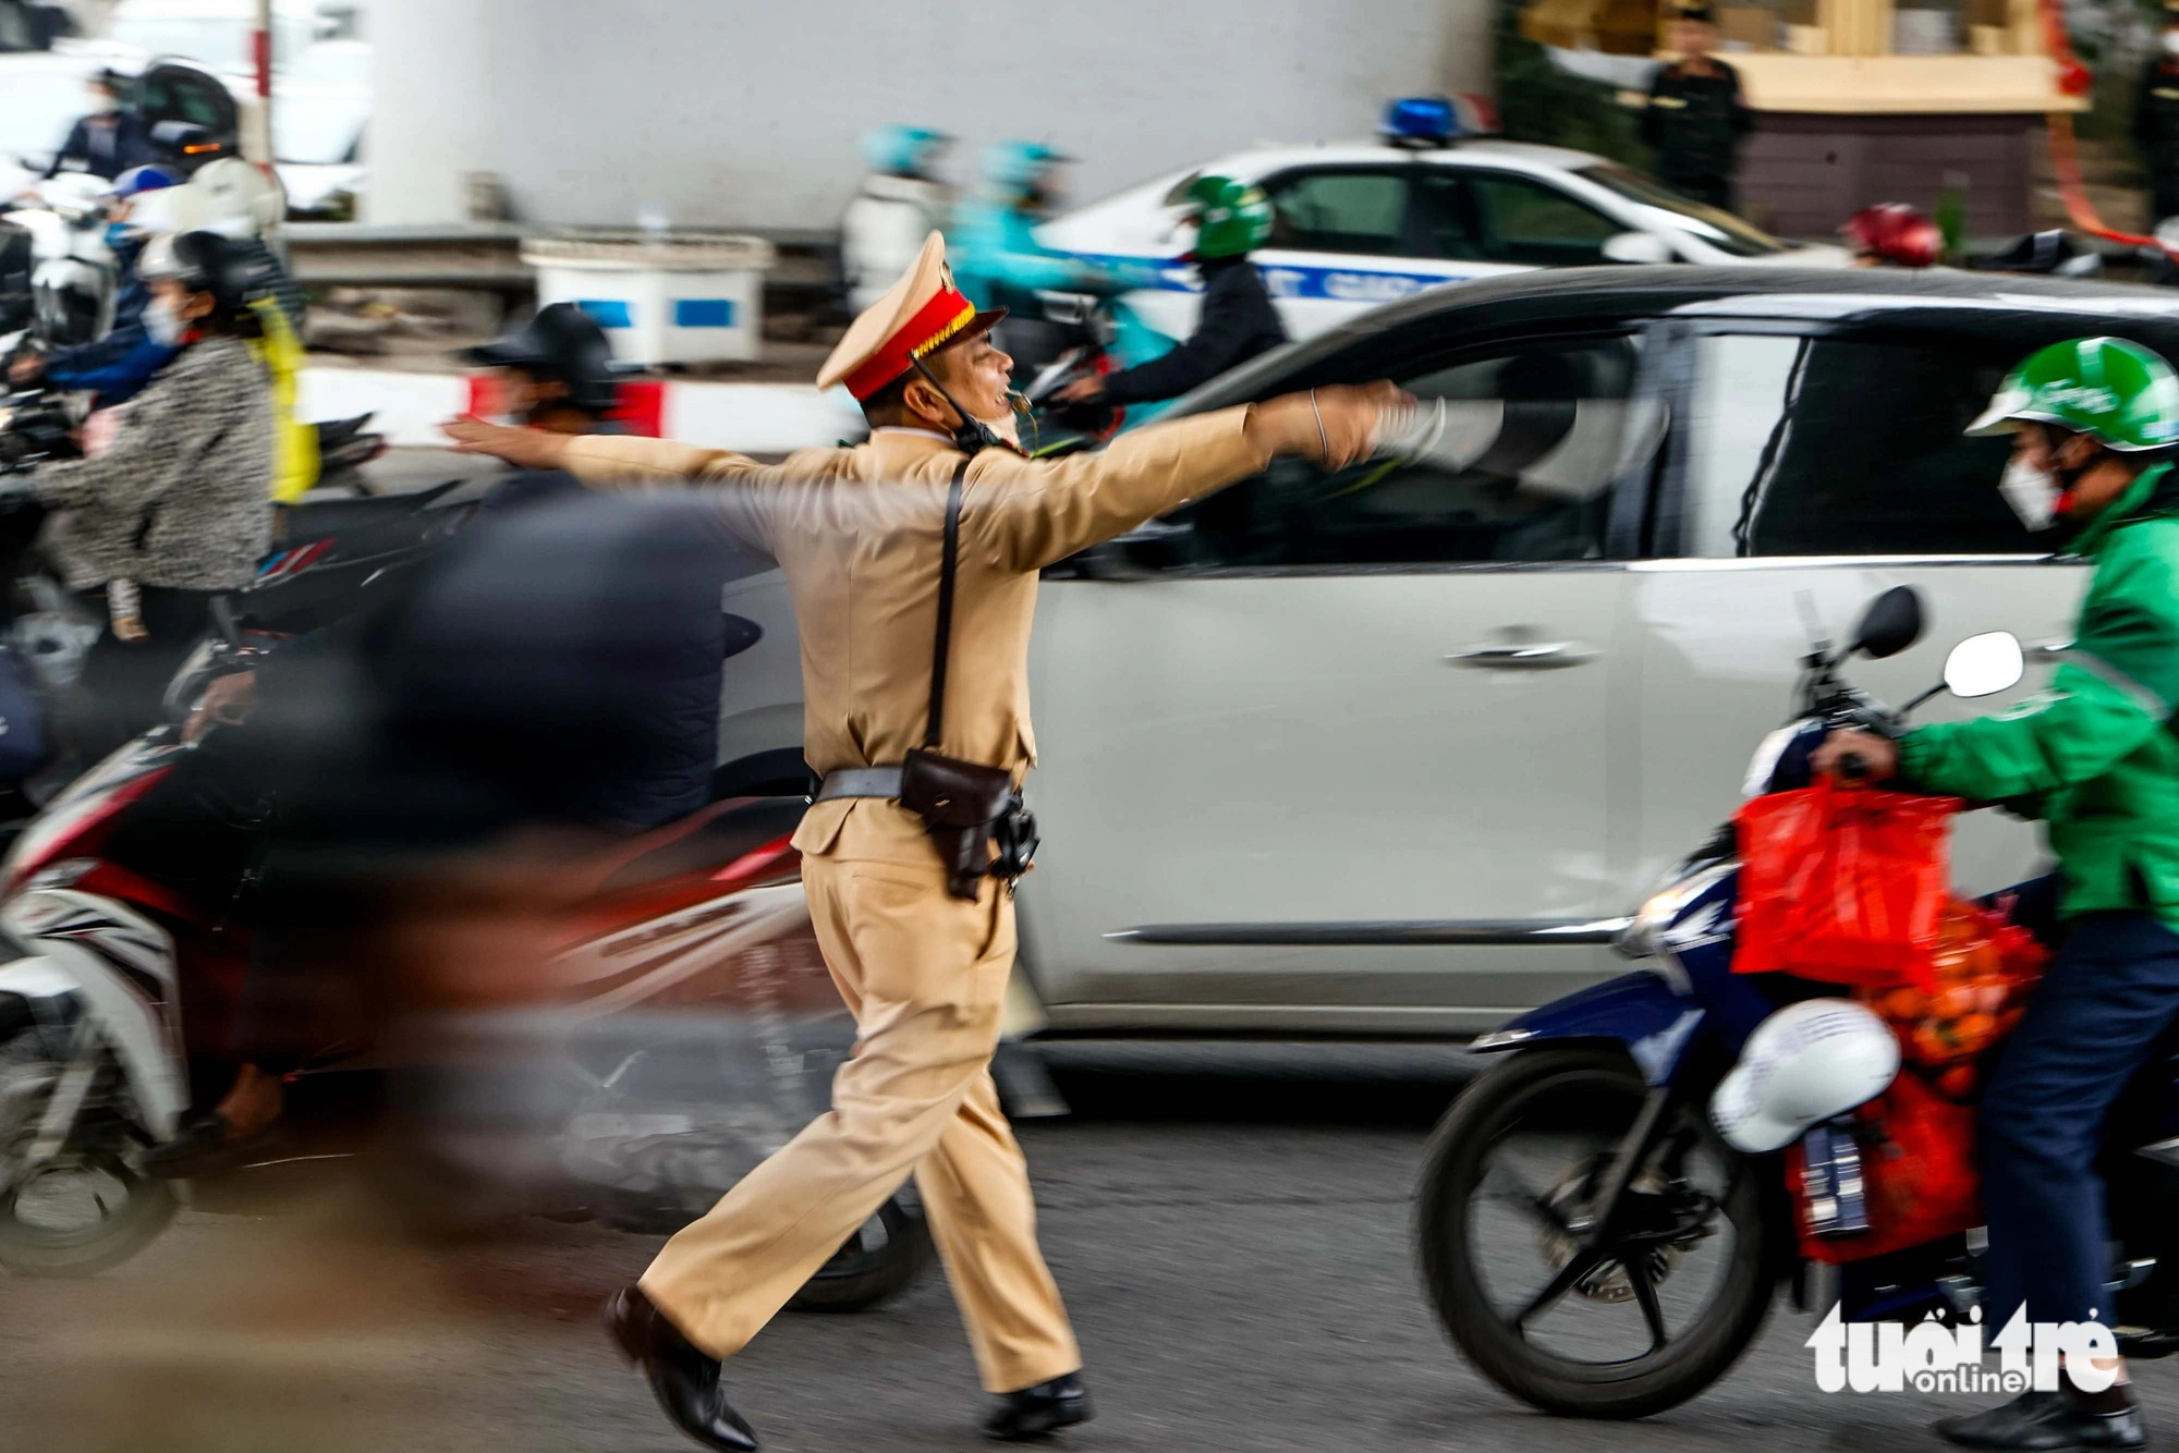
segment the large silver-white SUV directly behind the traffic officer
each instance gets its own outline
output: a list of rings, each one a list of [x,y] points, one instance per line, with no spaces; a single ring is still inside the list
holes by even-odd
[[[1469,1033],[1608,972],[1645,884],[1730,815],[1811,634],[1920,586],[1922,645],[1857,675],[1894,701],[1961,636],[2066,640],[2085,571],[2005,505],[2005,440],[1961,427],[2009,364],[2085,333],[2179,357],[2179,294],[1527,274],[1381,309],[1183,401],[1392,377],[1499,434],[1460,473],[1281,462],[1048,573],[1028,782],[1046,847],[1020,895],[1048,1022]],[[728,786],[791,776],[800,732],[778,575],[739,593],[769,634],[728,669]],[[1994,889],[2035,852],[1985,813],[1957,871]]]

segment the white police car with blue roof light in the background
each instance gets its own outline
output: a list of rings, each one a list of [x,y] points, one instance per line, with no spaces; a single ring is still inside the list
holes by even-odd
[[[1835,246],[1780,242],[1669,192],[1617,161],[1558,146],[1460,139],[1449,102],[1392,102],[1377,144],[1253,150],[1190,172],[1253,181],[1277,213],[1255,253],[1286,331],[1310,338],[1440,283],[1602,261],[1848,266]],[[1174,338],[1196,322],[1194,268],[1172,172],[1046,222],[1046,246],[1087,261],[1164,264],[1159,285],[1131,292],[1142,318]]]

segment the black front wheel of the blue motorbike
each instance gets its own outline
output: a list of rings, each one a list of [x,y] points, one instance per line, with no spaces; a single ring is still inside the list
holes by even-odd
[[[1543,1412],[1684,1403],[1769,1314],[1761,1196],[1700,1104],[1665,1111],[1619,1205],[1597,1205],[1645,1096],[1623,1052],[1530,1050],[1471,1085],[1429,1141],[1416,1207],[1429,1301],[1490,1381]]]

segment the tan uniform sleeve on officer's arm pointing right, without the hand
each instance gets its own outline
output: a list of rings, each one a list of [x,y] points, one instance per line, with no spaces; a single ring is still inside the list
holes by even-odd
[[[1009,571],[1042,571],[1270,464],[1249,410],[1148,425],[1103,453],[1024,460],[985,451],[970,468],[963,529]]]

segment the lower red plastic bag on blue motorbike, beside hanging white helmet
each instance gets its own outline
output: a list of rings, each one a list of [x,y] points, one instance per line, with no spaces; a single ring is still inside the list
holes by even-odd
[[[1802,1181],[1802,1146],[1785,1157],[1800,1253],[1811,1261],[1861,1261],[1922,1246],[1983,1224],[1983,1179],[1974,1168],[1974,1104],[1939,1094],[1913,1067],[1854,1111],[1867,1231],[1817,1235]]]

